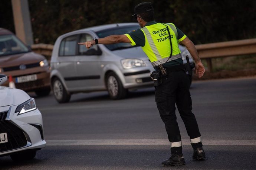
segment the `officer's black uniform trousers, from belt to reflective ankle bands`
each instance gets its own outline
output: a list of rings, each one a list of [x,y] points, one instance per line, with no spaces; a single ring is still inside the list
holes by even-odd
[[[192,113],[188,75],[184,70],[178,70],[169,72],[167,76],[162,76],[162,80],[163,83],[155,87],[155,102],[165,124],[169,141],[181,141],[180,129],[175,115],[175,103],[190,139],[200,137],[197,121]]]

